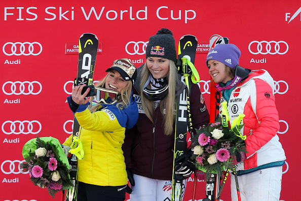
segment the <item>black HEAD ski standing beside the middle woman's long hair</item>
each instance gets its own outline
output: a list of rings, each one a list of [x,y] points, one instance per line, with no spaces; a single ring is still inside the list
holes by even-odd
[[[183,154],[187,149],[187,126],[192,135],[192,122],[189,105],[189,94],[192,81],[189,78],[193,78],[192,80],[194,80],[194,82],[195,76],[198,79],[198,74],[193,66],[197,45],[198,40],[192,35],[185,35],[179,40],[178,73],[181,75],[181,81],[186,85],[186,88],[177,96],[176,101],[175,143],[171,189],[171,200],[173,201],[181,201],[185,192],[183,180],[181,178],[176,178],[175,166],[177,164],[175,164],[175,159]]]

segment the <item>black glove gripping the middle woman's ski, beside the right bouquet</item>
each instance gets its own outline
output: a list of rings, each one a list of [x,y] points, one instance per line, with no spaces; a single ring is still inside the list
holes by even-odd
[[[175,163],[179,163],[175,166],[175,178],[177,180],[187,179],[196,170],[194,160],[191,159],[193,151],[190,149],[182,155],[176,158]]]

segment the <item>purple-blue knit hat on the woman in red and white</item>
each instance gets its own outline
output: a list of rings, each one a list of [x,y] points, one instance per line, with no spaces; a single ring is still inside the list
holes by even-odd
[[[208,66],[208,60],[217,60],[223,64],[235,69],[239,63],[240,50],[233,44],[218,44],[212,50],[209,51],[206,59],[206,65]]]

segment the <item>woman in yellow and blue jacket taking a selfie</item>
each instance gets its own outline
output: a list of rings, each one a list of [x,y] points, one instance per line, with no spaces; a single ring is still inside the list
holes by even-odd
[[[82,94],[81,85],[73,88],[67,98],[81,125],[79,135],[85,153],[78,160],[78,201],[125,199],[128,179],[121,147],[125,129],[133,127],[138,119],[137,104],[131,96],[137,72],[129,59],[115,60],[106,72],[94,97],[85,98],[89,89]],[[101,97],[105,94],[103,88],[118,93]],[[71,141],[70,136],[63,145],[70,146]]]

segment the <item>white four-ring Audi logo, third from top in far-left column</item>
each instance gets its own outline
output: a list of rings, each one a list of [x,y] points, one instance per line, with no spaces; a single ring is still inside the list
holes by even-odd
[[[33,131],[33,124],[37,123],[39,125],[39,130],[37,130],[36,132]],[[9,126],[5,127],[5,124],[8,124]],[[19,131],[16,131],[16,127],[19,124]],[[27,124],[27,131],[25,131],[25,125]],[[9,128],[9,129],[8,129]],[[11,134],[37,134],[41,131],[42,129],[42,125],[39,121],[33,120],[33,121],[5,121],[2,124],[2,131],[6,134],[6,135],[11,135]]]

